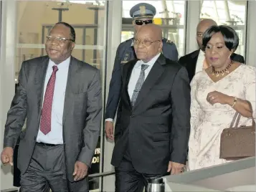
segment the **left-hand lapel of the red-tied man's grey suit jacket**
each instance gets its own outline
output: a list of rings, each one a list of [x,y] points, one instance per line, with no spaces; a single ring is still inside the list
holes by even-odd
[[[37,107],[39,117],[42,112],[42,102],[44,98],[44,81],[49,64],[49,57],[42,57],[42,61],[37,65],[37,71],[34,76],[34,83],[37,86]]]

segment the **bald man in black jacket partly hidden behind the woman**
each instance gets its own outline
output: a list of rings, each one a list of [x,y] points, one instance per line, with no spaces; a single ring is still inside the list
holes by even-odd
[[[203,19],[202,21],[200,21],[196,27],[196,41],[199,49],[189,54],[186,54],[179,59],[179,63],[186,67],[186,70],[188,71],[190,82],[196,72],[202,71],[202,69],[206,69],[207,67],[209,67],[209,64],[204,61],[202,37],[204,32],[213,25],[217,25],[217,23],[212,19]],[[244,57],[242,57],[242,55],[240,54],[233,53],[231,55],[231,59],[236,62],[245,63]]]

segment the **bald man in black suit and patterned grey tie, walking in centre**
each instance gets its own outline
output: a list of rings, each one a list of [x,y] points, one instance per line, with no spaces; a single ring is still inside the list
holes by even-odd
[[[147,178],[181,173],[190,133],[190,87],[186,69],[161,54],[161,28],[138,31],[138,59],[123,66],[120,115],[112,165],[115,191],[140,192]],[[145,80],[145,82],[144,82]]]

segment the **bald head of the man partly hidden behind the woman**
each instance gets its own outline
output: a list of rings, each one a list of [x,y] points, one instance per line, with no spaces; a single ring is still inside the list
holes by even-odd
[[[196,27],[196,41],[200,49],[203,49],[202,47],[202,37],[204,32],[209,29],[209,27],[212,27],[214,25],[217,25],[217,23],[212,19],[203,19],[199,22],[199,24]]]

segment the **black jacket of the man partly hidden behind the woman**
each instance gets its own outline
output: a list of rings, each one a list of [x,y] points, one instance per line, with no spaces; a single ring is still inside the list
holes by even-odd
[[[189,81],[190,82],[193,79],[195,72],[196,72],[196,62],[197,62],[197,58],[199,56],[199,51],[200,51],[200,49],[198,49],[194,52],[191,52],[189,54],[186,54],[179,59],[179,63],[181,65],[183,65],[184,67],[186,67],[186,70],[189,73]],[[245,63],[244,57],[242,57],[242,55],[240,55],[240,54],[233,53],[231,55],[231,59],[236,62]]]

